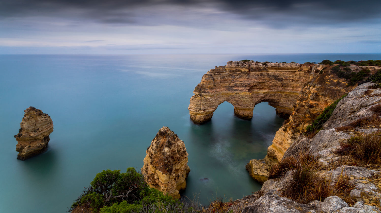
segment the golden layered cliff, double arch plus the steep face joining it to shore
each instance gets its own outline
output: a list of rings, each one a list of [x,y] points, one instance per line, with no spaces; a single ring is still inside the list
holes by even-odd
[[[268,148],[267,162],[280,161],[287,148],[323,109],[354,86],[320,64],[227,62],[203,75],[189,104],[191,120],[203,124],[211,120],[218,105],[227,101],[234,114],[243,119],[253,117],[256,104],[268,102],[280,116],[287,118]],[[351,66],[354,72],[379,67]]]

